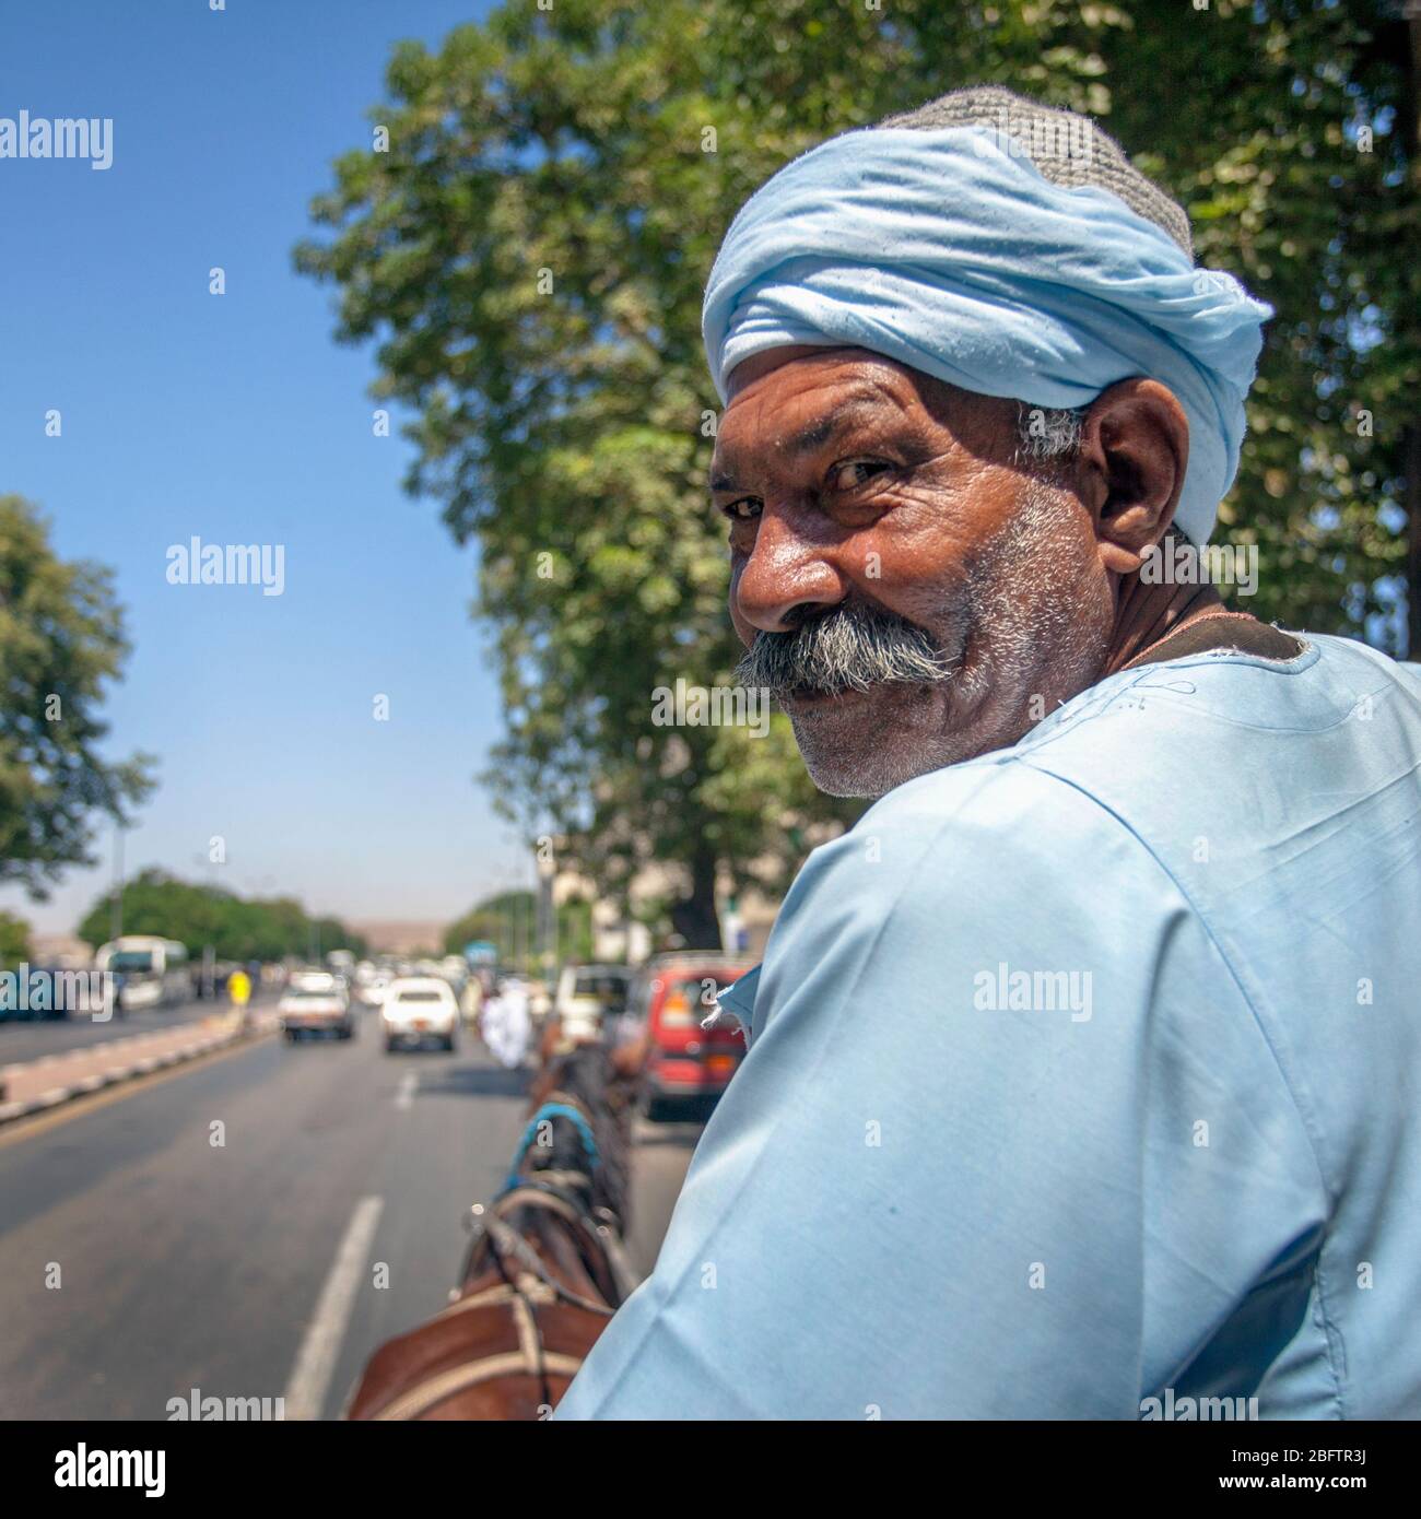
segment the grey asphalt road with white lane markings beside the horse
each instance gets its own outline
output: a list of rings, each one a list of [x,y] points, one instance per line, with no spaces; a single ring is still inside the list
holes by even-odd
[[[366,1018],[0,1130],[0,1417],[166,1419],[191,1388],[339,1417],[371,1349],[444,1305],[526,1082],[474,1039],[388,1056]],[[698,1129],[640,1132],[646,1271]]]

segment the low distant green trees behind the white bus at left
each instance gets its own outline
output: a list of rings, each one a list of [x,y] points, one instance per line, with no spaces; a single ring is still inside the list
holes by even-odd
[[[112,925],[112,893],[100,896],[79,924],[79,937],[100,945]],[[331,949],[365,954],[365,942],[334,917],[309,917],[289,896],[242,898],[214,886],[143,870],[123,887],[123,931],[178,939],[198,958],[207,945],[219,960],[305,958]]]

